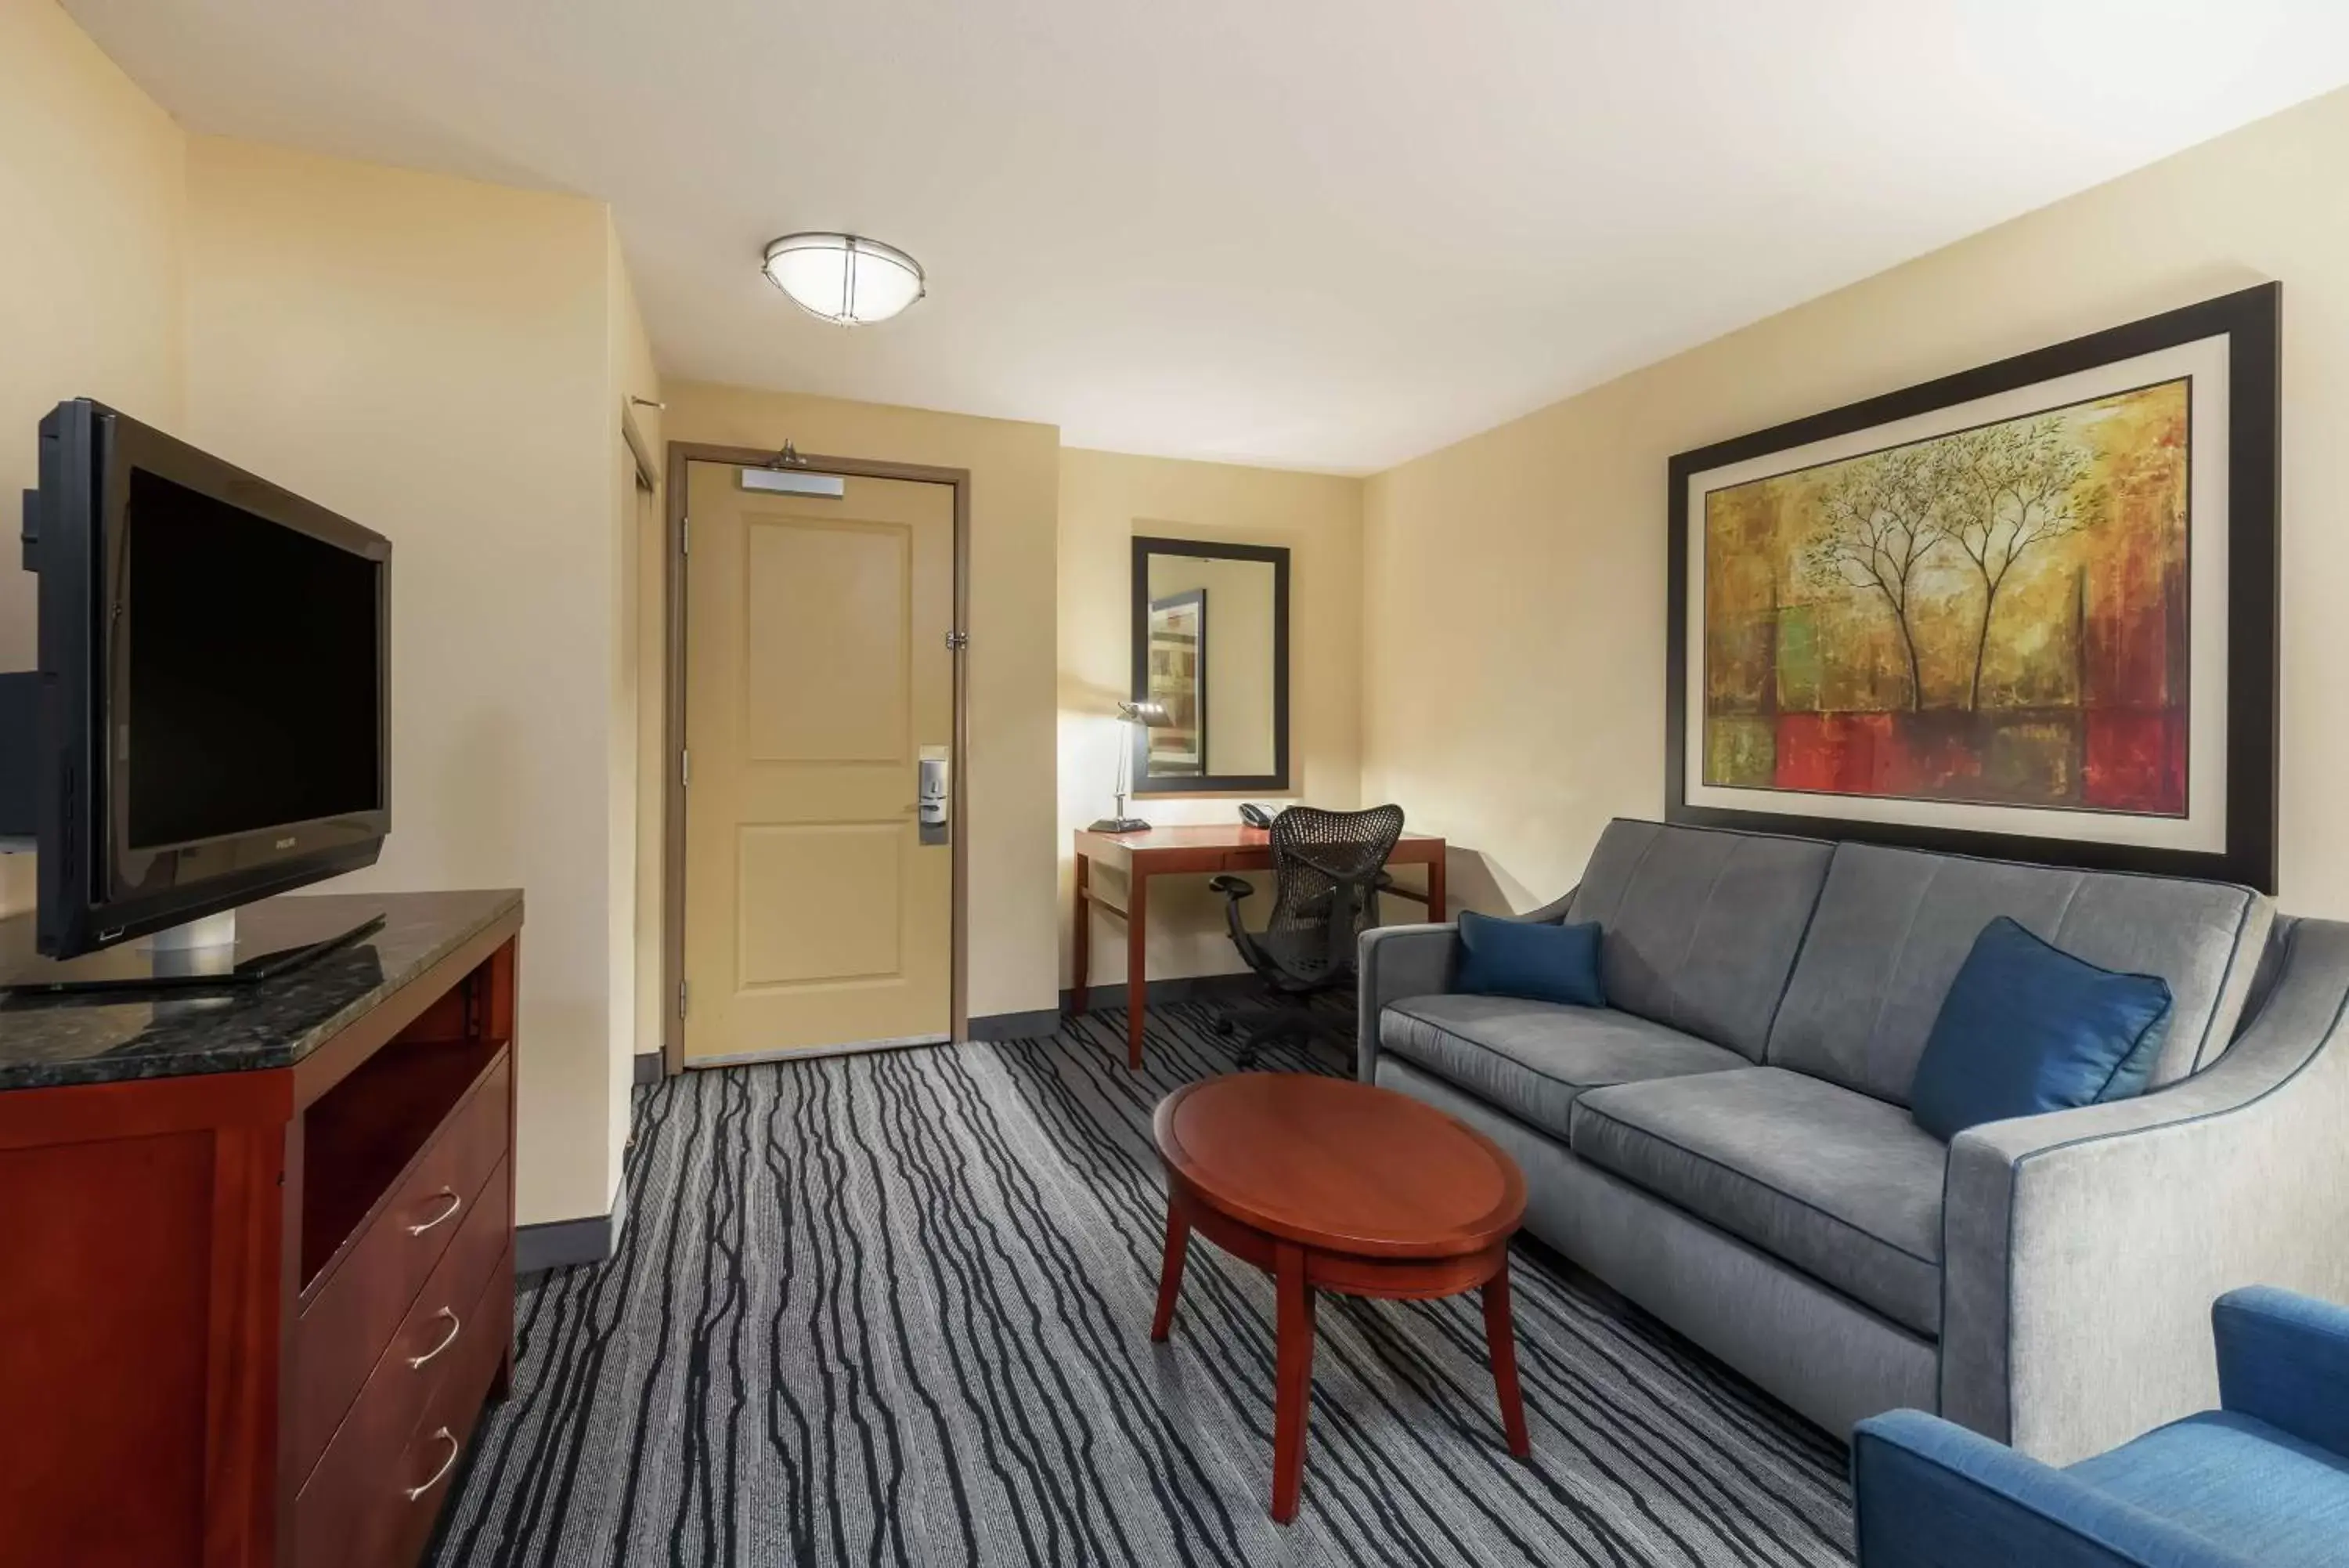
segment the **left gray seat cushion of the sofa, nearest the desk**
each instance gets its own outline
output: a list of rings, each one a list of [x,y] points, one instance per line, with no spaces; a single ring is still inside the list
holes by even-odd
[[[1405,997],[1379,1016],[1379,1046],[1553,1138],[1586,1088],[1745,1067],[1647,1018],[1517,997]]]

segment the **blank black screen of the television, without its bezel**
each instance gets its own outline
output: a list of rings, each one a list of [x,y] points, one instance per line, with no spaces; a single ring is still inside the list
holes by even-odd
[[[383,806],[376,562],[146,468],[122,552],[132,849]]]

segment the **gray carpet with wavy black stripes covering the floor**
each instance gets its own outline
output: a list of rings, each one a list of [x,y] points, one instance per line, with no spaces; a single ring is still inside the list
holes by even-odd
[[[1156,1011],[1142,1074],[1109,1011],[641,1091],[620,1255],[526,1281],[435,1561],[1849,1563],[1837,1443],[1534,1251],[1534,1462],[1473,1295],[1325,1298],[1304,1507],[1273,1526],[1271,1281],[1193,1244],[1149,1342],[1149,1119],[1229,1070],[1205,1020]]]

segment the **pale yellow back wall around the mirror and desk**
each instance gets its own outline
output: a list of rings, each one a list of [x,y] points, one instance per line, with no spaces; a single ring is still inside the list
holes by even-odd
[[[1362,802],[1362,482],[1330,475],[1059,454],[1059,964],[1069,973],[1071,835],[1109,816],[1132,684],[1132,536],[1290,548],[1290,795]],[[1259,795],[1142,795],[1153,823],[1226,823]],[[1412,802],[1405,802],[1412,809]],[[1416,820],[1414,820],[1416,825]],[[1203,877],[1151,884],[1153,980],[1224,973],[1240,959]],[[1261,917],[1257,917],[1261,922]],[[1092,980],[1125,978],[1123,926],[1092,929]]]

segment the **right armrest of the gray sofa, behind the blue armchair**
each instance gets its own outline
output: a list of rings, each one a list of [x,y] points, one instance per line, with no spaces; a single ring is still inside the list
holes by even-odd
[[[2217,1403],[2222,1293],[2349,1295],[2349,924],[2271,940],[2257,1018],[2203,1072],[1950,1145],[1943,1415],[2067,1465]]]

